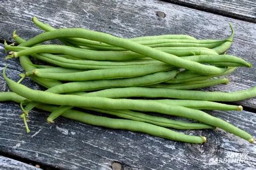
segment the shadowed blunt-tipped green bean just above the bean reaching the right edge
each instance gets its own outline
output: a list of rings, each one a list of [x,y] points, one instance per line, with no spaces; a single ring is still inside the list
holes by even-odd
[[[210,79],[210,80],[200,80],[185,82],[181,84],[154,84],[149,86],[150,88],[169,88],[169,89],[178,89],[178,90],[191,90],[199,89],[204,87],[215,86],[217,84],[227,84],[229,80],[227,78],[223,79]]]

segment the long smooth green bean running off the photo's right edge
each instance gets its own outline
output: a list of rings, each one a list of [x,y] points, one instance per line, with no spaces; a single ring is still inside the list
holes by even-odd
[[[189,100],[215,101],[215,102],[235,102],[256,96],[256,87],[247,90],[234,92],[218,91],[197,91],[197,90],[176,90],[167,88],[145,88],[127,87],[105,89],[87,94],[86,96],[100,96],[111,98],[122,97],[165,97]]]

